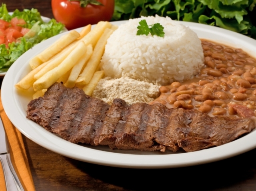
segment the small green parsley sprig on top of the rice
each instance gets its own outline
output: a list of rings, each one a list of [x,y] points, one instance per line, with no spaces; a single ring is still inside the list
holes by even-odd
[[[141,20],[139,22],[139,26],[137,27],[138,31],[136,35],[148,35],[149,33],[153,35],[157,35],[160,37],[164,37],[164,27],[160,25],[160,23],[156,23],[148,26],[146,20]]]

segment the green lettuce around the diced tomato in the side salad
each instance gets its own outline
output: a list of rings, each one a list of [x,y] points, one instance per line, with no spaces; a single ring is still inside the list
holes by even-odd
[[[5,44],[0,45],[0,72],[7,71],[24,52],[37,43],[59,34],[64,28],[63,24],[57,23],[54,19],[48,23],[43,22],[40,13],[36,9],[15,10],[12,15],[9,15],[6,4],[0,6],[0,19],[10,22],[14,17],[24,19],[27,23],[24,27],[29,28],[30,32],[24,35],[19,43],[9,43],[8,48]]]

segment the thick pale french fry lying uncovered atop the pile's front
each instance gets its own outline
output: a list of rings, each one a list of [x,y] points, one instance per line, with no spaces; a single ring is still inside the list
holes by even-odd
[[[86,51],[87,46],[84,42],[78,43],[75,49],[58,65],[58,67],[48,71],[42,77],[34,82],[34,91],[39,91],[42,89],[48,89],[51,85],[53,85],[62,75],[66,74],[82,57],[84,52]]]

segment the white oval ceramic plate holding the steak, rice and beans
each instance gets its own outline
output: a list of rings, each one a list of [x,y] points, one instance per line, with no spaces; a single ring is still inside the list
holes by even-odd
[[[120,25],[121,22],[114,22]],[[200,38],[219,41],[233,47],[256,53],[256,40],[221,28],[203,24],[182,22],[194,30]],[[81,29],[78,29],[78,31]],[[140,152],[110,150],[104,146],[82,146],[70,143],[26,119],[26,109],[31,95],[17,91],[14,85],[30,71],[28,61],[56,41],[64,33],[54,36],[24,53],[8,70],[2,83],[2,103],[12,123],[29,139],[37,144],[69,158],[115,167],[165,168],[198,165],[217,161],[256,148],[256,131],[222,146],[190,153]]]

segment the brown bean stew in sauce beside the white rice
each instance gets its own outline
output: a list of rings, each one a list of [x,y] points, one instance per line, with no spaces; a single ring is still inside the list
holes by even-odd
[[[242,49],[202,40],[205,66],[183,83],[160,87],[161,95],[150,102],[168,108],[197,108],[215,115],[256,115],[255,59]]]

